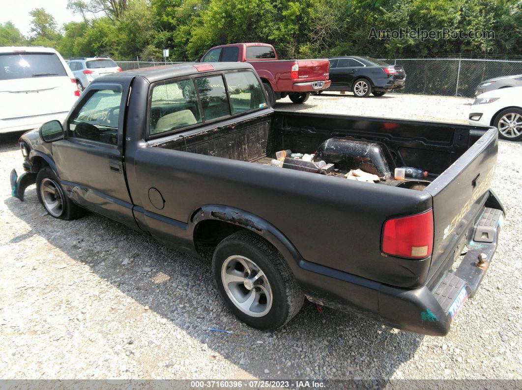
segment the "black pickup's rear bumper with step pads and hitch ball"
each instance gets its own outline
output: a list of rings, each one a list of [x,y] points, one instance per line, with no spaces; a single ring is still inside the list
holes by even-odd
[[[432,279],[432,285],[405,290],[303,260],[300,263],[303,269],[299,278],[301,287],[307,298],[315,303],[355,312],[405,331],[445,336],[455,314],[477,291],[495,253],[503,211],[493,193],[489,204],[499,209],[484,207],[482,220],[484,216],[490,216],[492,210],[491,215],[496,220],[485,218],[485,221],[494,220],[494,226],[487,222],[481,228],[482,222],[479,222],[473,227],[472,238],[467,242],[469,250],[460,266],[455,271],[449,270],[453,265],[453,261],[449,261],[448,267]],[[484,241],[484,231],[488,242]],[[460,249],[456,246],[456,250]],[[481,254],[485,259],[478,265]]]

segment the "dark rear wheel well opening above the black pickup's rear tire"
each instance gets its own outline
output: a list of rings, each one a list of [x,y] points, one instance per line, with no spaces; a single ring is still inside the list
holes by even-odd
[[[250,232],[233,223],[213,219],[201,221],[194,228],[194,246],[201,256],[210,259],[214,249],[223,238],[240,230]]]

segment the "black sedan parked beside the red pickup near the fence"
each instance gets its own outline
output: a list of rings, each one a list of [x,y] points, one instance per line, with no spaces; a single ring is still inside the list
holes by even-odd
[[[383,96],[404,88],[406,73],[400,65],[389,65],[371,57],[330,58],[331,85],[324,91],[349,91],[354,96]]]

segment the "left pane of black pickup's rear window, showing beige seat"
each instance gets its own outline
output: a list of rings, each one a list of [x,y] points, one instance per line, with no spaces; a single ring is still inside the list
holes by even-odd
[[[154,87],[150,105],[150,135],[196,123],[201,123],[201,113],[192,79]]]

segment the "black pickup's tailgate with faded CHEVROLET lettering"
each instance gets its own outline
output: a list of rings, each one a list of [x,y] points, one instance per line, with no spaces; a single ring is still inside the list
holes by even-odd
[[[429,276],[454,255],[470,224],[482,215],[497,151],[497,130],[490,129],[425,188],[433,197],[434,242]]]

